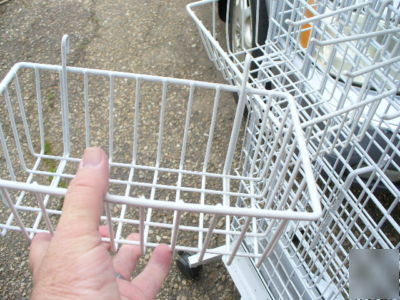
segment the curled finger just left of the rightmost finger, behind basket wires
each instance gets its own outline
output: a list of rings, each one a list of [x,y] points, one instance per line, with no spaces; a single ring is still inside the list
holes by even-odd
[[[132,233],[128,240],[138,241],[139,234]],[[140,258],[140,247],[136,245],[123,245],[114,257],[114,270],[124,278],[130,279]]]

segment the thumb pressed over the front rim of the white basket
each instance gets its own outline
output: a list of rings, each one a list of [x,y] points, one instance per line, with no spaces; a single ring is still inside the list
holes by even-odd
[[[68,187],[63,214],[57,227],[64,237],[97,234],[103,200],[108,188],[107,155],[100,148],[88,148],[75,178]]]

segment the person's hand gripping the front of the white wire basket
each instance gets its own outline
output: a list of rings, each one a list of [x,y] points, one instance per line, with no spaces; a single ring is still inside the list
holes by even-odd
[[[57,230],[53,236],[39,233],[32,240],[32,299],[152,299],[160,290],[172,258],[167,245],[159,245],[143,272],[130,280],[139,247],[123,245],[111,257],[101,241],[107,236],[107,228],[99,224],[108,169],[107,155],[101,149],[85,150]],[[137,234],[128,237],[137,238]]]

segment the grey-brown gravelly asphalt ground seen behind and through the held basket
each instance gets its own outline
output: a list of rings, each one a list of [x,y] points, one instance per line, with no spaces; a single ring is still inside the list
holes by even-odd
[[[152,75],[162,75],[186,79],[195,79],[211,82],[223,82],[219,73],[209,61],[200,38],[197,34],[194,23],[187,15],[185,5],[189,1],[177,0],[173,2],[163,1],[105,1],[105,0],[81,0],[81,1],[46,1],[46,0],[12,0],[4,5],[0,5],[0,77],[3,78],[10,67],[18,61],[31,61],[49,64],[60,63],[59,44],[64,33],[71,37],[72,52],[69,56],[69,64],[74,66],[91,67],[97,69],[117,70],[135,73],[146,73]],[[204,12],[207,13],[207,12]],[[21,78],[21,82],[25,82]],[[79,78],[71,78],[70,83],[78,82]],[[27,84],[26,90],[31,88],[32,83]],[[61,135],[57,122],[60,118],[52,111],[59,109],[57,100],[57,84],[55,79],[42,78],[44,115],[46,126],[51,129],[48,137],[48,145],[51,146],[51,154],[61,151],[61,145],[57,142]],[[105,82],[105,81],[104,81]],[[108,86],[98,81],[93,84],[92,97],[90,103],[96,103],[92,108],[93,113],[93,144],[107,145],[106,125],[102,124],[102,114],[107,109],[106,101]],[[119,83],[118,101],[115,103],[116,116],[115,128],[118,130],[118,141],[116,141],[115,159],[118,161],[129,162],[131,157],[126,149],[131,148],[129,142],[131,132],[124,130],[124,124],[132,119],[133,110],[127,109],[129,93],[132,92],[124,83]],[[78,86],[78,85],[77,85]],[[155,87],[154,87],[155,89]],[[143,164],[149,164],[154,160],[154,151],[147,149],[154,145],[156,137],[155,128],[158,128],[159,102],[157,98],[151,100],[154,92],[153,87],[144,91],[144,98],[147,105],[142,113],[142,139],[139,149],[139,157]],[[76,87],[76,95],[81,95],[82,90]],[[157,91],[156,91],[157,93]],[[186,112],[186,105],[180,101],[184,90],[171,90],[169,94],[166,116],[170,121],[166,125],[167,133],[164,141],[165,155],[163,162],[174,166],[179,163],[179,143],[182,139],[183,120]],[[30,99],[33,95],[24,95]],[[54,99],[56,98],[56,99]],[[75,98],[79,98],[75,96]],[[193,105],[193,124],[202,124],[210,121],[209,94],[198,93]],[[71,114],[79,111],[79,102],[71,97]],[[33,109],[34,107],[27,108]],[[4,108],[0,108],[0,113],[4,113]],[[219,110],[217,133],[221,138],[216,140],[215,155],[210,160],[210,168],[218,170],[221,168],[221,155],[227,143],[229,124],[234,116],[234,102],[230,95],[224,95],[221,99]],[[31,124],[35,124],[34,119],[29,119]],[[83,122],[72,124],[74,134],[71,137],[73,144],[73,154],[79,155],[84,148],[82,141]],[[4,125],[6,127],[6,125]],[[32,129],[35,133],[36,126]],[[197,149],[204,149],[206,138],[201,138],[201,126],[191,127],[193,137],[197,137],[195,142],[189,147],[186,163],[192,169],[198,169],[202,160],[199,159]],[[49,130],[50,131],[50,130]],[[116,134],[117,135],[117,134]],[[128,147],[128,148],[127,148]],[[127,154],[128,153],[128,154]],[[178,153],[178,154],[177,154]],[[12,154],[12,156],[15,153]],[[4,166],[4,159],[1,158],[1,165]],[[28,161],[29,162],[29,161]],[[46,167],[46,166],[44,166]],[[51,168],[52,166],[47,166]],[[67,171],[73,172],[76,165],[67,166]],[[1,168],[2,176],[4,168]],[[126,170],[112,170],[114,178],[123,178]],[[149,174],[137,174],[137,180],[148,180]],[[151,178],[151,177],[150,177]],[[43,180],[38,178],[38,181]],[[176,178],[166,177],[163,180],[173,182]],[[187,178],[187,184],[195,186]],[[65,183],[64,183],[65,184]],[[215,187],[219,183],[214,183]],[[123,189],[112,186],[112,192],[123,193]],[[146,190],[136,191],[145,194]],[[161,191],[160,198],[168,199],[166,191]],[[183,198],[190,198],[190,195],[182,195]],[[61,199],[59,199],[61,200]],[[210,200],[212,201],[212,200]],[[54,203],[59,207],[59,202]],[[114,214],[119,214],[121,208],[112,208]],[[129,211],[127,215],[135,212]],[[6,215],[5,209],[0,209],[0,218]],[[171,215],[166,212],[157,211],[153,214],[154,220],[170,222]],[[196,216],[184,216],[183,222],[192,223],[196,226]],[[222,226],[222,225],[221,225]],[[132,230],[124,228],[123,232]],[[160,241],[164,238],[162,231],[150,232],[153,239]],[[179,243],[190,245],[195,243],[193,235],[182,234]],[[215,240],[216,245],[223,240]],[[2,299],[21,299],[28,297],[31,290],[30,272],[27,266],[28,243],[20,233],[9,232],[1,238],[0,243],[0,297]],[[150,253],[142,259],[139,270],[143,267]],[[172,270],[161,290],[158,299],[236,299],[239,294],[231,281],[224,265],[218,261],[204,266],[199,280],[191,281],[182,278],[176,266]]]

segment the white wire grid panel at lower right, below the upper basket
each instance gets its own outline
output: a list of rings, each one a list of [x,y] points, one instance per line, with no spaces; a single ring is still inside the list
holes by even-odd
[[[399,249],[399,130],[370,128],[362,143],[316,161],[323,218],[291,227],[260,265],[276,298],[348,299],[351,249]]]

